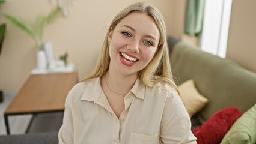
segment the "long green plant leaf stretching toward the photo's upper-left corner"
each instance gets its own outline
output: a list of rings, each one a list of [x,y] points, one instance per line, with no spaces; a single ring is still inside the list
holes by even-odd
[[[16,26],[16,28],[19,28],[20,30],[26,32],[36,40],[34,29],[29,23],[26,23],[25,21],[18,19],[17,17],[14,17],[14,16],[10,16],[8,14],[3,14],[3,16],[5,17],[7,22],[10,22],[14,26]]]

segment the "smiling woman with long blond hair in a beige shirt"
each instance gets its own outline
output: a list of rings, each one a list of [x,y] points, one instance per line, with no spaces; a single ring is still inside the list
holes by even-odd
[[[130,5],[112,21],[96,69],[69,92],[59,143],[196,143],[177,91],[162,15]]]

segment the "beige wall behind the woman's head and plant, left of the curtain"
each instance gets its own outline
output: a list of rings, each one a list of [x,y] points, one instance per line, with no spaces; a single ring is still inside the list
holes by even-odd
[[[179,0],[147,0],[162,11],[168,23],[169,34],[180,37],[174,29],[174,11]],[[103,38],[111,19],[122,8],[136,2],[124,0],[77,0],[75,10],[69,17],[61,17],[44,29],[44,41],[52,41],[55,59],[64,52],[69,53],[78,71],[79,80],[87,76],[96,64]],[[47,14],[53,8],[50,1],[8,0],[2,5],[3,13],[35,22],[38,14]],[[179,10],[183,13],[182,10]],[[176,17],[177,18],[177,17]],[[181,18],[179,18],[181,19]],[[5,20],[0,16],[0,22]],[[0,55],[0,89],[18,91],[36,67],[35,43],[31,37],[13,26],[7,26],[4,45]]]

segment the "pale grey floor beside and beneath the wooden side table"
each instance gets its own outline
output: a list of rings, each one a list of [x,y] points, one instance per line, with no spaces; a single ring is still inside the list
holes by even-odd
[[[4,92],[4,101],[0,103],[0,135],[7,134],[4,122],[4,111],[16,94],[17,92]],[[8,116],[11,134],[24,134],[31,118],[32,115]]]

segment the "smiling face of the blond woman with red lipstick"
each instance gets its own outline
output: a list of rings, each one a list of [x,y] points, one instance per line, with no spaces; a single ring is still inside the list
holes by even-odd
[[[108,35],[109,70],[120,75],[136,75],[153,59],[159,43],[154,19],[141,12],[124,17]]]

